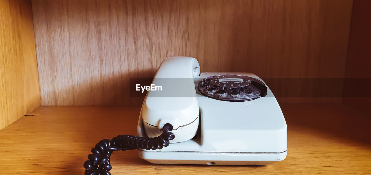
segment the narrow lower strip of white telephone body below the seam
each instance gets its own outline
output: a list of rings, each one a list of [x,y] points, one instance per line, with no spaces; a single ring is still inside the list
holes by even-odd
[[[152,164],[269,165],[286,158],[280,153],[143,151],[139,157]]]

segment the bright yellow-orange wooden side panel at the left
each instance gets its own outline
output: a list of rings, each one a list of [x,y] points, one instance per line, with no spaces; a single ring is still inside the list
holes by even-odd
[[[41,104],[29,0],[0,1],[0,129]]]

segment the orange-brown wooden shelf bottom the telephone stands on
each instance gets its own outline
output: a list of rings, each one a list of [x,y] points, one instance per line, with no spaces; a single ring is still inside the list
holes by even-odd
[[[267,166],[150,164],[111,156],[112,174],[367,174],[371,118],[343,104],[283,104],[288,155]],[[136,134],[140,107],[40,107],[0,130],[1,174],[83,174],[103,138]],[[170,145],[171,146],[171,145]],[[238,145],[237,145],[238,146]]]

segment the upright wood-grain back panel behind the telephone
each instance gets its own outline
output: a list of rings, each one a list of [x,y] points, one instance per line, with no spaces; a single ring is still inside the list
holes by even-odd
[[[135,105],[129,78],[153,77],[171,56],[197,58],[203,72],[344,78],[352,0],[33,0],[32,9],[42,105]],[[315,92],[306,87],[296,89]]]

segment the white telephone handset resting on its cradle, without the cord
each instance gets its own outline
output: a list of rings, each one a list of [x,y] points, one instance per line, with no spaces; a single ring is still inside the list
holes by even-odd
[[[176,135],[171,143],[184,142],[196,135],[199,107],[193,77],[199,73],[200,65],[195,58],[171,57],[162,62],[152,84],[163,89],[148,91],[141,111],[148,137],[160,135],[166,123],[173,125]]]

